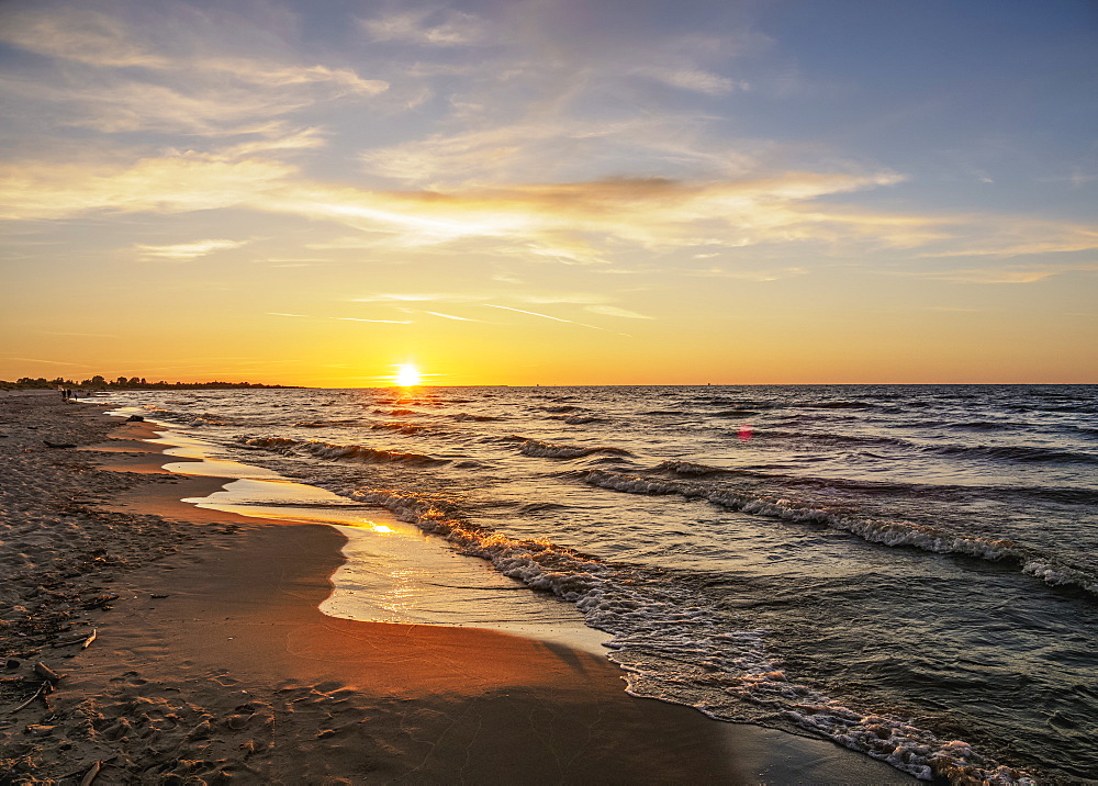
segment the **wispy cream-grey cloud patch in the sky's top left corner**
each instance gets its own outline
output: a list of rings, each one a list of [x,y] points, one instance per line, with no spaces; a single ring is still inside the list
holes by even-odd
[[[54,124],[201,135],[247,132],[320,101],[389,89],[350,68],[292,61],[284,42],[272,45],[257,30],[232,12],[181,3],[152,18],[136,7],[24,9],[0,18],[0,41],[54,58],[53,68],[12,69],[0,89],[26,105],[46,103]]]

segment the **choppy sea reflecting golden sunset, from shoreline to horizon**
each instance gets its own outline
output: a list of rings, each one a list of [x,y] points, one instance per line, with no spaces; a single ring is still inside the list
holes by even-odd
[[[585,626],[638,696],[921,778],[1098,783],[1098,386],[110,401],[264,468],[223,473],[260,513],[406,530],[352,539],[334,614]],[[452,603],[417,606],[417,573]]]

